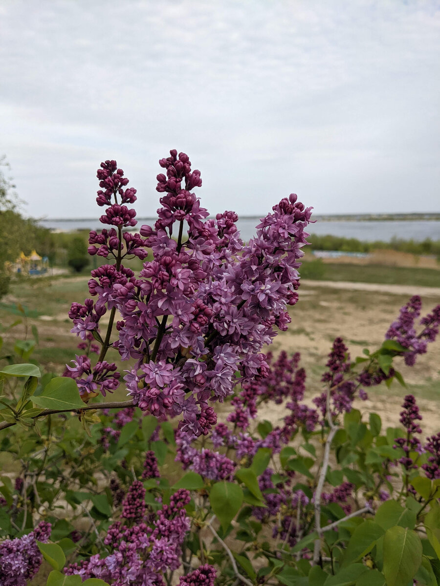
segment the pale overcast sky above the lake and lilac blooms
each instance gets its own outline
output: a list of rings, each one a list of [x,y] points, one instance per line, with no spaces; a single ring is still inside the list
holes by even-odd
[[[116,159],[158,207],[187,152],[211,213],[440,211],[440,3],[2,0],[0,154],[26,213],[95,217]]]

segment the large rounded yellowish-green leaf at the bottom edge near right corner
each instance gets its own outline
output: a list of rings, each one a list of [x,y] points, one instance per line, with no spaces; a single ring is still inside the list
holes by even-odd
[[[384,575],[387,586],[404,586],[422,563],[422,542],[414,531],[391,527],[384,536]]]

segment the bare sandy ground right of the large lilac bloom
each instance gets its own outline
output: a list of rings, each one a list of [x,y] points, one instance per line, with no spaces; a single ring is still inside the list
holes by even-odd
[[[303,280],[299,293],[300,300],[290,312],[290,328],[275,338],[272,349],[301,353],[308,400],[322,390],[320,376],[336,336],[345,340],[354,359],[362,355],[364,347],[373,352],[381,345],[388,326],[411,295],[421,295],[422,315],[440,303],[440,288],[431,287]],[[356,401],[356,407],[365,414],[376,411],[385,425],[398,425],[402,398],[413,393],[424,418],[424,432],[436,433],[440,428],[440,339],[429,345],[427,354],[419,356],[414,367],[405,366],[401,360],[398,370],[408,389],[396,381],[391,389],[381,385],[368,392],[367,401]],[[279,420],[282,407],[271,406],[264,416]]]

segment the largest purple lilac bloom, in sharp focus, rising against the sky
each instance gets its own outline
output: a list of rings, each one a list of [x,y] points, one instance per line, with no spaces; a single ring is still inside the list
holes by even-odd
[[[136,190],[123,189],[127,179],[115,161],[101,163],[97,202],[109,206],[101,222],[115,228],[90,233],[90,253],[113,256],[116,264],[92,272],[89,290],[96,301],[73,304],[69,315],[72,332],[85,340],[106,309],[116,309],[121,319],[114,347],[124,360],[136,360],[124,377],[128,393],[147,413],[160,420],[182,415],[182,431],[205,435],[216,423],[209,400],[223,401],[237,383],[268,373],[261,350],[276,328],[286,329],[286,307],[297,301],[310,208],[295,194],[282,199],[244,246],[235,213],[206,219],[207,210],[191,191],[202,185],[200,172],[191,170],[187,155],[170,151],[160,165],[166,175],[157,176],[157,190],[164,194],[158,220],[138,235],[124,236],[124,248],[121,227],[134,225],[135,214],[123,204],[134,202]],[[145,258],[140,250],[150,250],[153,259],[135,278],[120,261],[128,253]],[[75,364],[69,372],[86,399],[102,382],[96,369],[82,372]],[[100,387],[113,390],[110,383]],[[237,421],[245,425],[253,409],[251,402]]]

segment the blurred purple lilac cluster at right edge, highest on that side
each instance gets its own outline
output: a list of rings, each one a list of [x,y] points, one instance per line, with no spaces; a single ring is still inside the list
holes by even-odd
[[[398,319],[392,322],[385,335],[385,338],[395,339],[404,348],[407,348],[404,359],[408,366],[413,366],[417,355],[427,351],[428,343],[434,342],[439,331],[440,305],[437,305],[431,314],[420,320],[420,324],[424,327],[421,332],[416,332],[415,321],[420,315],[421,308],[421,298],[418,295],[411,297],[408,303],[401,308]]]

